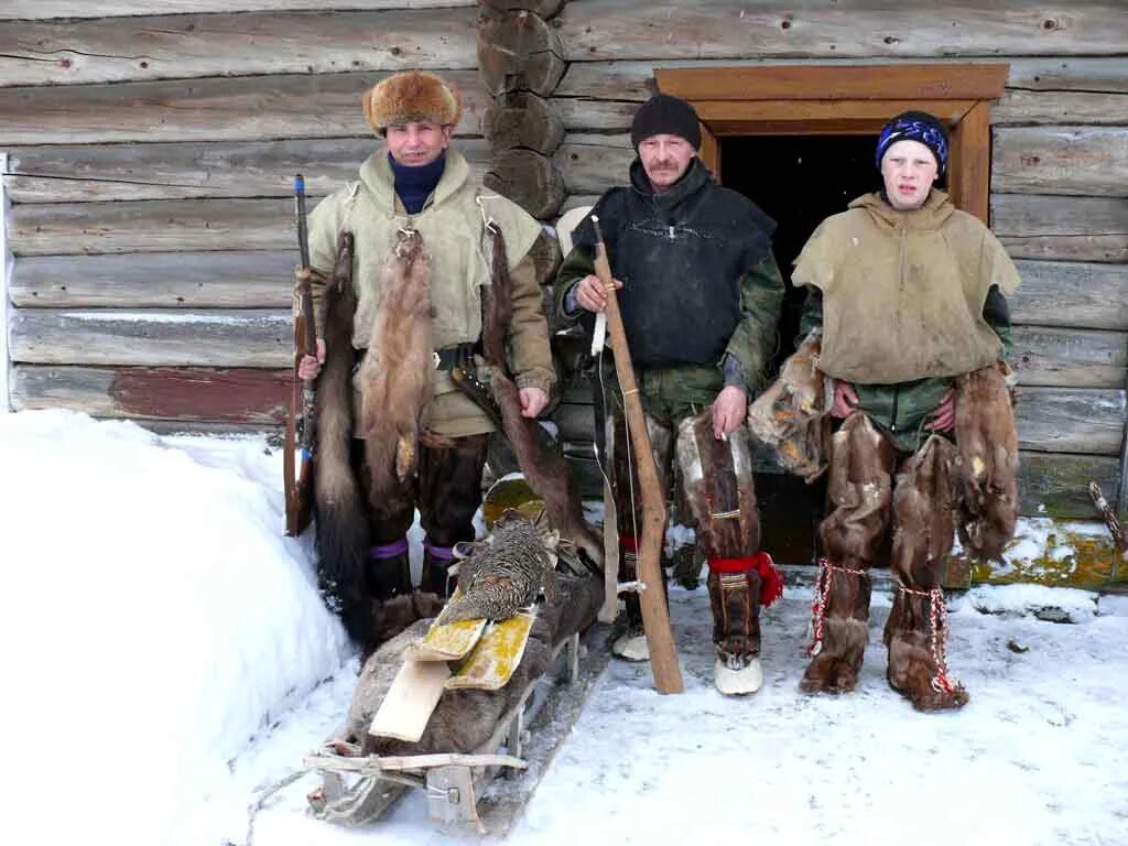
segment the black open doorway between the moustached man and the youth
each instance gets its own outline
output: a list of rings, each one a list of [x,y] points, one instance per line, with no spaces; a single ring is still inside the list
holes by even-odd
[[[791,284],[792,263],[826,218],[881,187],[873,164],[875,135],[722,136],[721,182],[749,197],[776,221],[776,263],[787,292],[772,378],[795,350],[805,288]],[[826,508],[826,477],[808,485],[790,474],[759,473],[761,547],[778,562],[813,563],[817,528]]]

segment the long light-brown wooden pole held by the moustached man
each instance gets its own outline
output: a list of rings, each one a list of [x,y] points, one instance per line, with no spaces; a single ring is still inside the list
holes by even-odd
[[[673,633],[670,631],[670,615],[666,608],[666,591],[662,590],[660,556],[666,536],[666,497],[658,481],[658,465],[650,448],[646,420],[638,398],[638,386],[627,349],[626,331],[619,314],[619,301],[615,296],[615,282],[607,263],[607,247],[599,231],[599,219],[592,217],[596,227],[596,275],[607,292],[607,334],[611,338],[615,353],[615,372],[623,390],[631,444],[635,452],[638,470],[638,491],[642,495],[642,538],[638,541],[638,579],[646,589],[638,594],[642,606],[642,626],[650,649],[650,666],[654,672],[654,687],[661,694],[680,694],[682,690],[681,668],[673,651]]]

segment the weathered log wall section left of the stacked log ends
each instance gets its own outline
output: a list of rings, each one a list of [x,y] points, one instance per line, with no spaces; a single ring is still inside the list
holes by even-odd
[[[355,178],[378,144],[360,95],[407,68],[459,86],[456,143],[483,173],[478,15],[474,0],[0,2],[5,399],[156,429],[279,425],[293,175],[310,208]]]

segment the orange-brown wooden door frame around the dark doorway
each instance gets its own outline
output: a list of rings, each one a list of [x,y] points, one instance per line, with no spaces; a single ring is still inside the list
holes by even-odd
[[[899,112],[948,124],[948,192],[988,223],[990,102],[1010,64],[778,64],[656,68],[658,90],[688,100],[702,122],[700,158],[721,178],[724,135],[875,135]]]

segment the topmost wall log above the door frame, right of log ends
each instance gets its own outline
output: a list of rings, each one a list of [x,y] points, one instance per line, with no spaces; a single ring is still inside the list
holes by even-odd
[[[1120,55],[1118,0],[1047,12],[1024,0],[890,8],[866,0],[583,0],[561,12],[569,61],[756,56]]]

